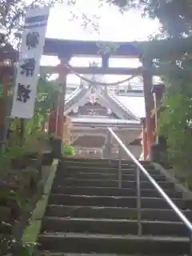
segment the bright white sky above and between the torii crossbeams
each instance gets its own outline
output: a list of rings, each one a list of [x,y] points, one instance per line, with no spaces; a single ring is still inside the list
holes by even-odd
[[[50,10],[46,37],[74,40],[95,40],[112,42],[143,41],[151,34],[158,32],[160,27],[157,20],[142,18],[138,10],[127,11],[121,14],[116,6],[98,5],[98,0],[77,0],[73,7],[58,4]],[[98,30],[94,30],[91,22],[83,26],[83,15],[92,22],[97,23]],[[74,17],[75,16],[75,17]],[[85,20],[85,19],[84,19]],[[94,59],[92,59],[94,60]],[[97,60],[96,60],[97,61]],[[90,59],[74,58],[70,65],[89,66]],[[42,66],[57,65],[57,58],[42,56]],[[137,60],[110,60],[110,66],[137,67]],[[110,76],[107,81],[118,81],[124,76]],[[74,75],[68,76],[68,82],[78,82]]]

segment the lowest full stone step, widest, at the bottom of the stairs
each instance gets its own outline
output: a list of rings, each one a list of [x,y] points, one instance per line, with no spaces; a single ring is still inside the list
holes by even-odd
[[[39,235],[39,250],[78,254],[189,254],[189,238],[134,235],[46,233]]]

